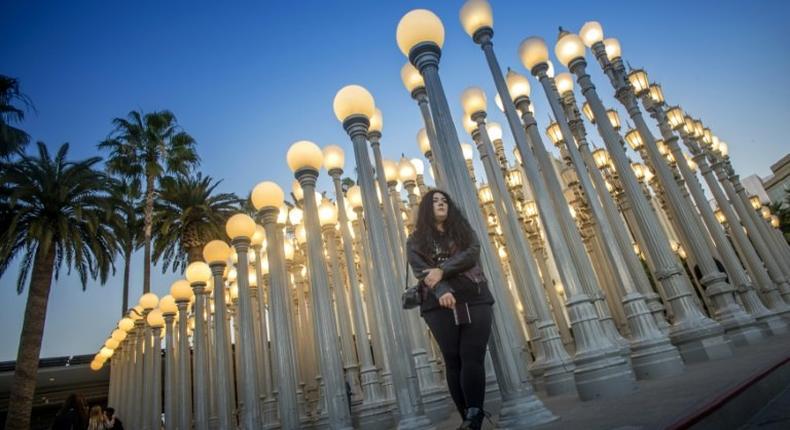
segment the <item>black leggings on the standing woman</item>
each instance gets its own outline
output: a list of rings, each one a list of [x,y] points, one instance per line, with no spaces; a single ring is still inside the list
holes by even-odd
[[[462,304],[459,303],[462,306]],[[491,335],[491,305],[469,307],[471,324],[457,326],[453,311],[439,308],[423,314],[444,357],[447,387],[461,415],[483,408],[486,394],[485,356]]]

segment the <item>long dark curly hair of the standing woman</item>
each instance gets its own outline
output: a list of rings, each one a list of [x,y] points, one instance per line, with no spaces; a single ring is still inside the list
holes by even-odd
[[[417,225],[412,233],[417,249],[425,255],[431,255],[433,241],[441,234],[436,228],[436,217],[433,214],[433,196],[442,194],[447,199],[447,219],[444,220],[444,234],[450,239],[455,249],[464,249],[472,242],[472,227],[469,221],[455,205],[447,192],[432,189],[425,193],[417,209]]]

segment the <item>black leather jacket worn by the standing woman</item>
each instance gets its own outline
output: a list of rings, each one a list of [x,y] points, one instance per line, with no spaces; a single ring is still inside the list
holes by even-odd
[[[449,258],[439,264],[436,264],[432,255],[426,255],[426,253],[418,249],[416,242],[413,236],[409,236],[409,239],[406,241],[407,258],[414,277],[422,282],[426,276],[424,271],[434,267],[442,269],[443,272],[442,281],[434,288],[425,288],[433,297],[428,298],[426,297],[428,294],[423,294],[423,305],[420,307],[422,312],[438,306],[438,298],[444,294],[457,293],[448,282],[445,282],[445,280],[455,276],[463,276],[471,281],[470,283],[472,284],[482,285],[484,288],[483,294],[478,293],[475,296],[480,296],[481,303],[493,303],[491,293],[485,285],[485,275],[480,268],[480,242],[477,240],[477,237],[472,235],[471,242],[465,249],[451,249]],[[452,244],[450,247],[453,248]],[[475,299],[470,301],[478,301]]]

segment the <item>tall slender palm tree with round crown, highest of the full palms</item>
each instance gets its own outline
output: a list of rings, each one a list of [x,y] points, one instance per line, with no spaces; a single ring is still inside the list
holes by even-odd
[[[165,173],[187,174],[200,158],[195,139],[179,127],[175,115],[164,110],[143,114],[131,111],[112,121],[115,129],[99,144],[110,152],[107,170],[145,184],[143,206],[143,293],[151,291],[151,229],[156,183]]]

